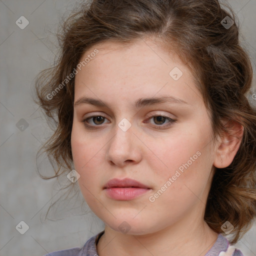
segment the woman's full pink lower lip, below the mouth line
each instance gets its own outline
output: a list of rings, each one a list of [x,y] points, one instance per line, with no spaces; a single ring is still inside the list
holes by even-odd
[[[151,189],[142,187],[105,188],[107,195],[115,200],[131,200]]]

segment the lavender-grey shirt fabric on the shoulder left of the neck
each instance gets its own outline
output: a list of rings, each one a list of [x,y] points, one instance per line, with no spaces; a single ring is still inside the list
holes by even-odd
[[[89,238],[82,247],[52,251],[43,256],[95,256],[97,255],[95,241],[99,238],[100,235],[102,235],[103,232],[104,231],[101,231]]]

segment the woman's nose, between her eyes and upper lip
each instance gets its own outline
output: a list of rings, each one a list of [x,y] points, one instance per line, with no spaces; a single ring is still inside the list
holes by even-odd
[[[107,143],[106,160],[111,165],[119,167],[138,163],[141,160],[142,143],[133,133],[135,131],[133,125],[126,131],[120,127],[116,124],[113,128],[114,135]]]

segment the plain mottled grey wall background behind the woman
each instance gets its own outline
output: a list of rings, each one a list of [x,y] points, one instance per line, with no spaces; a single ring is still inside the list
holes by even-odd
[[[70,10],[74,2],[0,0],[0,256],[41,256],[79,247],[103,229],[102,221],[90,210],[81,215],[86,205],[83,211],[79,209],[83,201],[79,190],[77,197],[70,200],[73,205],[66,205],[67,201],[59,205],[56,216],[62,219],[42,221],[50,202],[62,193],[58,190],[60,185],[70,181],[67,178],[44,180],[36,172],[36,152],[49,135],[49,129],[32,101],[31,90],[37,72],[54,60],[57,43],[52,33],[61,15]],[[241,41],[251,56],[255,73],[256,1],[228,2],[238,14]],[[24,29],[15,24],[22,15],[29,21]],[[251,101],[256,103],[256,100]],[[25,121],[20,121],[22,118]],[[23,131],[22,124],[28,125]],[[47,159],[40,158],[38,166],[40,173],[49,170],[52,174]],[[24,234],[15,228],[20,221],[29,226]],[[255,240],[254,224],[236,247],[244,255],[256,255]]]

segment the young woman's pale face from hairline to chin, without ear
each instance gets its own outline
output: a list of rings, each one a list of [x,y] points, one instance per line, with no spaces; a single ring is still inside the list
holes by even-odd
[[[75,76],[71,147],[91,210],[130,234],[202,222],[215,149],[187,66],[150,40],[97,44],[82,60],[88,54]],[[146,188],[106,189],[113,178]]]

